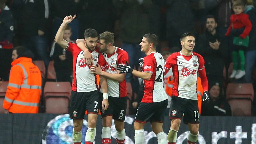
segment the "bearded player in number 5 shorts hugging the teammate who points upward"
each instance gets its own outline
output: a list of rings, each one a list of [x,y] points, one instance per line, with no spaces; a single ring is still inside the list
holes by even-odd
[[[112,119],[114,119],[116,142],[117,144],[124,144],[124,120],[127,106],[126,82],[125,74],[117,73],[117,65],[126,64],[128,62],[128,54],[123,49],[113,46],[113,43],[113,33],[103,32],[100,34],[98,49],[104,56],[106,71],[102,71],[98,64],[93,65],[90,69],[91,73],[107,78],[108,83],[109,107],[105,111],[100,107],[103,121],[101,134],[102,143],[111,143],[110,129],[112,126]],[[81,44],[81,39],[77,40],[77,44],[84,51],[86,56],[89,51],[83,43]],[[90,57],[90,54],[87,56]]]

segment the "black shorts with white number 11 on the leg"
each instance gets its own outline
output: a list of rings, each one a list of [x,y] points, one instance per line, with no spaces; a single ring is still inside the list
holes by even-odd
[[[184,113],[184,124],[199,124],[198,100],[172,96],[170,119],[181,119]]]

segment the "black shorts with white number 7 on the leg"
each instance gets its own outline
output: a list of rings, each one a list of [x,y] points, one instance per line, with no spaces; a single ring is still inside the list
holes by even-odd
[[[85,110],[87,113],[99,113],[99,90],[91,92],[71,92],[71,103],[69,117],[72,119],[84,119]]]

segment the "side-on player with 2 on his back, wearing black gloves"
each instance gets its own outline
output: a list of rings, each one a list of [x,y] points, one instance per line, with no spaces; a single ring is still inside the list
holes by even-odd
[[[164,58],[156,52],[158,37],[154,34],[145,34],[141,40],[141,51],[147,55],[144,58],[142,72],[133,70],[130,66],[119,65],[119,73],[132,73],[144,79],[144,96],[137,110],[134,130],[135,144],[144,143],[144,126],[151,122],[152,130],[156,134],[158,144],[167,144],[163,132],[164,110],[168,104],[168,97],[164,91]]]

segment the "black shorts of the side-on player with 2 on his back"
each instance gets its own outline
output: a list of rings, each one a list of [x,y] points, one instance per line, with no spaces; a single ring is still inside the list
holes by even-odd
[[[155,102],[155,103],[145,103],[140,102],[135,116],[135,121],[140,123],[145,122],[161,122],[164,121],[164,111],[168,105],[168,99]]]

